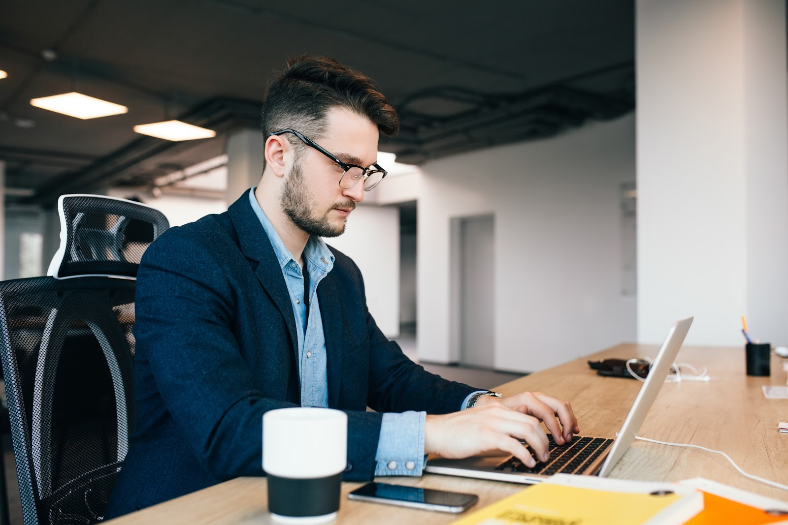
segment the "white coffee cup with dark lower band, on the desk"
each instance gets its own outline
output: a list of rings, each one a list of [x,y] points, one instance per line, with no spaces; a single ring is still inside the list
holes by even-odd
[[[262,416],[262,469],[268,509],[279,523],[327,523],[340,508],[340,476],[348,464],[348,415],[293,408]]]

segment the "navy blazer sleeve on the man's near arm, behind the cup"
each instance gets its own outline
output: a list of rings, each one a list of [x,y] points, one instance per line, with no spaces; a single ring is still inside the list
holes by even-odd
[[[228,276],[232,257],[177,230],[154,242],[140,264],[135,328],[139,358],[149,362],[184,446],[206,471],[217,479],[263,475],[262,415],[297,405],[263,397],[255,388],[232,330],[238,300],[236,283]],[[237,264],[248,265],[243,257],[237,259]],[[382,416],[351,416],[348,460],[364,466],[355,477],[369,479],[376,445],[370,454],[368,442],[377,443]]]

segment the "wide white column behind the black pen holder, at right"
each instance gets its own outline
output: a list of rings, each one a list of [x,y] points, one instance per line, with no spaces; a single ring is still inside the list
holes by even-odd
[[[637,1],[637,331],[788,344],[784,0]]]

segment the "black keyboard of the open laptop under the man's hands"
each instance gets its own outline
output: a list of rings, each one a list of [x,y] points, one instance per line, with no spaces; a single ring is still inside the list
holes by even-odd
[[[564,474],[579,474],[585,471],[598,457],[611,446],[614,441],[605,438],[583,438],[575,436],[571,443],[558,445],[547,434],[550,442],[550,459],[545,463],[537,463],[530,468],[519,459],[512,456],[496,467],[497,471],[522,472],[523,474],[553,475],[559,472]],[[530,448],[529,448],[530,449]]]

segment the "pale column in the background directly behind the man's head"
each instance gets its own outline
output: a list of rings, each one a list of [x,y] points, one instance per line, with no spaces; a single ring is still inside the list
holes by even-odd
[[[227,138],[227,205],[260,182],[264,143],[259,128],[234,131]]]

